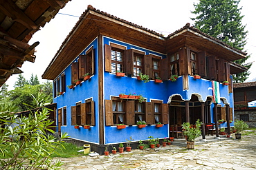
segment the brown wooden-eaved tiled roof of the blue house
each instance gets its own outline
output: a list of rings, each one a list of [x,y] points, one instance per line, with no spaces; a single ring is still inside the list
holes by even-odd
[[[246,57],[245,52],[241,52],[196,28],[190,27],[189,23],[180,30],[164,37],[162,34],[96,10],[89,5],[71,32],[66,36],[42,78],[55,79],[100,34],[163,54],[177,52],[184,44],[194,45],[196,42],[198,43],[196,46],[198,49],[225,56],[226,61],[235,61]],[[201,40],[198,41],[194,37]]]

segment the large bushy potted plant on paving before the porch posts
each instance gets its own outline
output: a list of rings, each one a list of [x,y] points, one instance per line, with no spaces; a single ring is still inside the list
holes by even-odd
[[[194,140],[201,135],[200,120],[196,120],[195,126],[190,127],[190,123],[183,123],[182,127],[184,135],[187,136],[188,149],[194,149]]]

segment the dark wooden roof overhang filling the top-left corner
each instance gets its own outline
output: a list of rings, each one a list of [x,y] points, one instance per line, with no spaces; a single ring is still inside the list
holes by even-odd
[[[0,2],[0,87],[25,61],[35,62],[33,34],[51,21],[70,0],[9,0]]]

